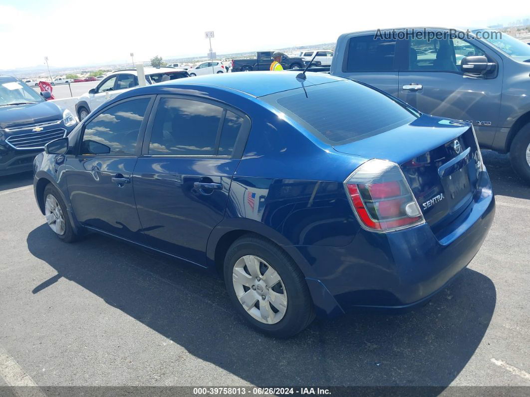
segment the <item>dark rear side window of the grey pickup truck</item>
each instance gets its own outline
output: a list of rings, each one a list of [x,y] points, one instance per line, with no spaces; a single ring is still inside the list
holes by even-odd
[[[348,42],[346,72],[390,72],[394,68],[396,41],[374,34],[352,37]]]

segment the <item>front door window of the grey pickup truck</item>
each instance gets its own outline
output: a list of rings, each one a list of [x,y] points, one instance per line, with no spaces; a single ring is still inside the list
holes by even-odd
[[[462,58],[485,55],[471,43],[458,38],[412,39],[409,48],[409,70],[460,72]]]

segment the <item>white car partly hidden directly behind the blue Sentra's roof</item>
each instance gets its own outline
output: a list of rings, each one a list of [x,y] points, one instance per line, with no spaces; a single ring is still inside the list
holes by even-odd
[[[172,67],[145,67],[144,73],[146,84],[161,83],[190,76],[185,70]],[[83,120],[102,103],[125,90],[133,89],[137,85],[138,72],[136,69],[114,70],[114,72],[105,76],[95,88],[79,97],[78,102],[75,104],[77,117],[80,121]]]

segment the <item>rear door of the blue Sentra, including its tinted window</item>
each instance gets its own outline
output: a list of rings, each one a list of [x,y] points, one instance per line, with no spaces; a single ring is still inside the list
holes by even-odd
[[[149,246],[204,263],[206,243],[223,219],[250,120],[199,98],[159,96],[133,182]]]

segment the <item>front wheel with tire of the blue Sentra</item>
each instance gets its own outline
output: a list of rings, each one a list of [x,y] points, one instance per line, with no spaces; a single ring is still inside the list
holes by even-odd
[[[48,184],[44,189],[43,202],[46,222],[58,239],[65,243],[76,241],[78,236],[72,228],[65,202],[59,191],[52,184]]]

